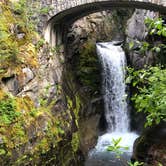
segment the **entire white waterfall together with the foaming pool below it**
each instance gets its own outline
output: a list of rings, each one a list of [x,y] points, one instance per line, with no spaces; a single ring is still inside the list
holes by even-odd
[[[126,102],[125,53],[113,42],[98,43],[97,53],[102,63],[102,90],[107,132],[99,136],[97,145],[89,152],[85,166],[123,166],[124,160],[107,151],[112,139],[121,138],[120,146],[128,147],[122,158],[129,160],[137,134],[130,132],[130,119]]]

